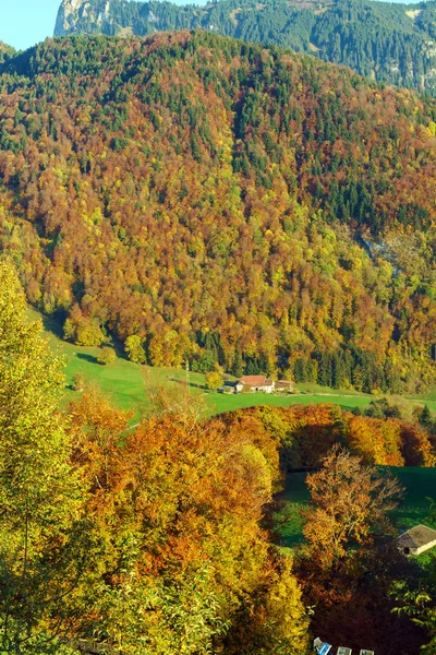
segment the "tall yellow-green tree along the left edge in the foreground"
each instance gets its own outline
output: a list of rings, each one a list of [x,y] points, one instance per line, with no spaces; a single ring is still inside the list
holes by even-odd
[[[81,488],[59,412],[63,362],[28,322],[14,270],[0,264],[0,652],[58,648],[80,575]],[[75,552],[73,552],[75,550]]]

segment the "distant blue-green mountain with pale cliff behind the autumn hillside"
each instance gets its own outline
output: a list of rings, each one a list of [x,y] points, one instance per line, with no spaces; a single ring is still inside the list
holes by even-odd
[[[218,0],[205,7],[128,0],[63,0],[55,36],[144,36],[209,29],[293,48],[387,84],[436,91],[436,2]]]

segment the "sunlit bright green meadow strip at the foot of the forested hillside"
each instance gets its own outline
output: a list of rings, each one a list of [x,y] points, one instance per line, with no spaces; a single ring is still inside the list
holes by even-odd
[[[34,309],[29,309],[32,319],[41,318]],[[113,404],[122,409],[134,412],[133,421],[141,416],[142,410],[148,405],[148,392],[150,385],[166,382],[174,386],[177,381],[186,381],[186,372],[172,368],[152,368],[138,366],[129,361],[123,353],[118,352],[117,360],[113,364],[101,366],[97,362],[97,347],[81,347],[64,342],[61,338],[61,330],[56,321],[44,318],[44,325],[50,346],[55,353],[62,355],[65,359],[65,403],[77,397],[77,392],[72,389],[72,379],[75,373],[81,373],[83,378],[97,385],[107,394]],[[343,409],[353,409],[354,407],[366,407],[374,396],[358,393],[353,390],[331,390],[318,384],[302,383],[298,385],[299,392],[291,396],[276,396],[263,393],[253,394],[219,394],[205,393],[204,376],[202,373],[190,372],[189,393],[193,395],[202,394],[208,415],[221,414],[233,409],[253,407],[256,405],[276,405],[289,406],[295,404],[311,403],[336,403]],[[436,414],[436,388],[423,398],[404,401],[410,407],[415,402],[427,402],[431,409]]]

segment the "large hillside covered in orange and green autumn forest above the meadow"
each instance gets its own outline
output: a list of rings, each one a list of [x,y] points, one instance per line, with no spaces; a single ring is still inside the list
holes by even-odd
[[[0,243],[77,344],[419,390],[436,329],[436,104],[210,33],[1,67]]]

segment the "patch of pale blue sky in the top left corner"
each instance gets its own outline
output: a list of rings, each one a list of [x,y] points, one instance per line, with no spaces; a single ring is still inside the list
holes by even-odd
[[[61,0],[0,0],[0,40],[17,49],[53,36]]]

